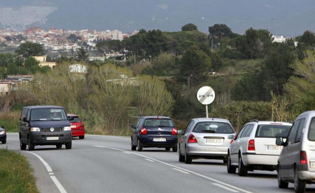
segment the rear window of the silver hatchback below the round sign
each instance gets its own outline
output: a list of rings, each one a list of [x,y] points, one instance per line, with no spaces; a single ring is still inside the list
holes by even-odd
[[[222,122],[199,122],[193,129],[195,133],[234,133],[228,123]]]

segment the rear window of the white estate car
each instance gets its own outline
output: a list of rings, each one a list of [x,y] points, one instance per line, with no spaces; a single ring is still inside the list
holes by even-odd
[[[291,126],[288,125],[258,125],[256,137],[276,138],[277,135],[288,136]]]

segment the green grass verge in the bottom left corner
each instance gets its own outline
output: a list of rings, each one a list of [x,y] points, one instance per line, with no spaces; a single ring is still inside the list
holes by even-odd
[[[23,155],[0,149],[0,160],[1,192],[38,192],[33,171]]]

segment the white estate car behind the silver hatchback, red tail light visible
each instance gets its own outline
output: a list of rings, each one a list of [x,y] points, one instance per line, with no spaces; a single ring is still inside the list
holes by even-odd
[[[277,169],[283,146],[276,145],[276,136],[287,137],[292,124],[252,120],[240,130],[228,149],[228,173],[240,176],[247,171]]]

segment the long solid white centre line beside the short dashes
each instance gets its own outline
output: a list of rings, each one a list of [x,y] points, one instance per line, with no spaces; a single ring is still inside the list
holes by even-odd
[[[108,147],[108,146],[93,146],[93,147],[109,148],[109,149],[114,149],[114,150],[118,150],[118,151],[126,151],[126,150],[117,149],[117,148]],[[140,157],[144,157],[144,158],[148,158],[148,159],[154,160],[154,161],[156,161],[156,162],[159,162],[159,163],[162,163],[162,164],[165,164],[165,165],[174,167],[174,168],[178,168],[178,169],[181,169],[181,170],[190,172],[190,173],[195,174],[195,175],[197,175],[197,176],[200,176],[200,177],[203,177],[203,178],[205,178],[205,179],[208,179],[208,180],[214,181],[214,182],[216,182],[216,183],[219,183],[219,184],[221,184],[221,185],[223,185],[223,186],[228,186],[228,187],[230,187],[230,188],[232,188],[232,189],[237,189],[237,190],[242,191],[242,192],[245,192],[245,193],[252,193],[251,191],[242,189],[242,188],[240,188],[240,187],[234,186],[234,185],[229,184],[229,183],[225,183],[225,182],[223,182],[223,181],[220,181],[220,180],[215,179],[215,178],[212,178],[212,177],[205,176],[205,175],[203,175],[203,174],[200,174],[200,173],[191,171],[191,170],[189,170],[189,169],[181,168],[181,167],[178,167],[178,166],[176,166],[176,165],[172,165],[172,164],[166,163],[166,162],[164,162],[164,161],[160,161],[160,160],[158,160],[158,159],[154,159],[154,158],[151,158],[151,157],[148,157],[148,156],[145,156],[145,155],[141,155],[141,154],[138,154],[138,153],[134,153],[134,152],[130,152],[130,153],[131,153],[131,154],[134,154],[134,155],[138,155],[138,156],[140,156]]]

